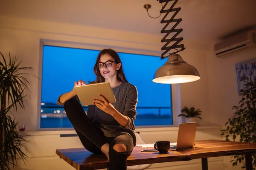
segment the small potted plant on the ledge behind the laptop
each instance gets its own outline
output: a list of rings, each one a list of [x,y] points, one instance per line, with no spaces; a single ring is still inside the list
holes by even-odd
[[[195,110],[194,107],[192,108],[187,108],[186,106],[181,110],[181,114],[178,115],[179,116],[185,116],[186,122],[196,122],[196,118],[199,118],[202,120],[202,118],[200,117],[201,115],[200,109]],[[183,114],[185,113],[185,114]]]

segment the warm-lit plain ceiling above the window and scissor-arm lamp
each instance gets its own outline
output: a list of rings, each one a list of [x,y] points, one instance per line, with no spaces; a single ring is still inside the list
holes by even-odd
[[[157,19],[148,17],[144,4],[151,4],[148,12],[152,17],[160,14],[157,0],[1,0],[0,16],[163,36],[163,14]],[[188,40],[219,40],[256,26],[256,0],[179,0],[175,7],[181,7],[175,17],[182,18],[177,26],[183,28],[180,36]]]

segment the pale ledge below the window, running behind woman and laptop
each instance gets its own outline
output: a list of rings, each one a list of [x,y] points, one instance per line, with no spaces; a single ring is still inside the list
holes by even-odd
[[[197,130],[213,130],[221,129],[221,126],[198,126]],[[178,127],[137,127],[137,132],[155,132],[155,131],[177,131]],[[75,130],[45,130],[45,131],[22,131],[28,136],[38,136],[38,135],[61,135],[61,134],[76,134]]]

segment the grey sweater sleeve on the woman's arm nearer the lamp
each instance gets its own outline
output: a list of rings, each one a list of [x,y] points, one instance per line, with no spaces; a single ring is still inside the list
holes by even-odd
[[[134,125],[135,116],[137,115],[136,107],[138,103],[138,91],[135,85],[132,85],[125,99],[125,110],[123,112],[124,116],[128,117],[128,123],[124,127],[130,129]]]

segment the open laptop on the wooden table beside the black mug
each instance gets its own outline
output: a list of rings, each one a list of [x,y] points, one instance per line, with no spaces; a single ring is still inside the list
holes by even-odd
[[[171,145],[170,150],[183,150],[194,146],[197,123],[180,123],[177,144]],[[155,149],[144,149],[142,152],[154,152]]]

